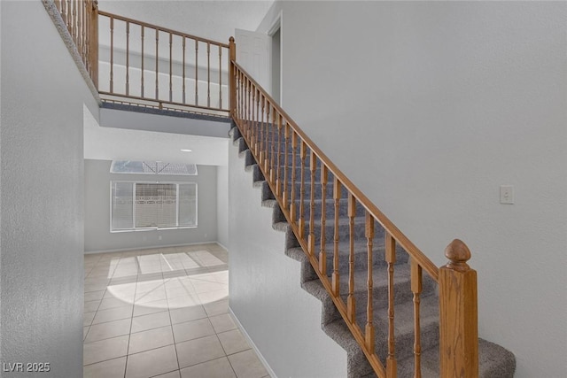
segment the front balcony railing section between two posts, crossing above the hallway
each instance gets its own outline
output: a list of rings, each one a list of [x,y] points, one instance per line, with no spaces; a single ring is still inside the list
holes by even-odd
[[[98,12],[98,91],[159,106],[229,111],[229,45]]]

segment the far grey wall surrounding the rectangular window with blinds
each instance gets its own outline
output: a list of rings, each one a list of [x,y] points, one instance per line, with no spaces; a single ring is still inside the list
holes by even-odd
[[[216,166],[198,166],[197,176],[110,174],[111,161],[84,160],[85,252],[120,251],[167,245],[216,242]],[[158,177],[158,179],[156,179]],[[198,184],[198,227],[110,232],[110,181],[190,181]],[[159,240],[161,237],[161,240]]]

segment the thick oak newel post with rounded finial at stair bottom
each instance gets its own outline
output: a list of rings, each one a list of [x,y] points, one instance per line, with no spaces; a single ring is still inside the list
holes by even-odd
[[[478,377],[477,272],[467,265],[469,248],[455,239],[439,268],[441,377]]]

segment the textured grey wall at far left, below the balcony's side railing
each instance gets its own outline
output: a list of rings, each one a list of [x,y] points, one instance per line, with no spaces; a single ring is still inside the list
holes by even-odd
[[[79,377],[83,103],[97,104],[42,2],[0,7],[2,362]]]

